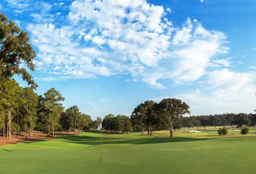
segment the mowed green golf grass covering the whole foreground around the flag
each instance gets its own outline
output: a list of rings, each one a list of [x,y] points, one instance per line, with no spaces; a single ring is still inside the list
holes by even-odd
[[[209,130],[210,131],[210,130]],[[225,138],[175,132],[174,138],[102,135],[59,136],[0,146],[0,173],[255,173],[256,135]],[[192,134],[192,135],[191,135]],[[212,133],[215,134],[215,133]],[[183,136],[182,136],[183,135]],[[194,136],[193,136],[194,135]],[[205,135],[205,137],[199,136]],[[220,138],[221,137],[221,138]]]

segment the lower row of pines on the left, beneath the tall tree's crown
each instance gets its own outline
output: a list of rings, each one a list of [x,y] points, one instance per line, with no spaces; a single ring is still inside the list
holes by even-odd
[[[3,90],[4,85],[8,90]],[[80,132],[89,129],[92,123],[91,116],[81,113],[77,106],[65,110],[61,104],[65,98],[54,88],[44,96],[38,96],[33,89],[20,87],[14,79],[0,86],[0,92],[4,94],[0,103],[0,129],[4,138],[10,139],[20,132],[24,132],[27,138],[32,136],[33,130],[54,137],[54,131]]]

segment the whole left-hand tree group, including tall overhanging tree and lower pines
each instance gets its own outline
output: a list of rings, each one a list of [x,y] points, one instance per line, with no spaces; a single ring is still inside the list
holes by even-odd
[[[33,130],[52,136],[55,130],[74,130],[75,133],[76,129],[86,129],[93,123],[91,117],[79,112],[77,106],[64,111],[61,102],[65,98],[54,88],[44,96],[35,93],[37,84],[28,70],[34,71],[36,54],[29,44],[28,34],[20,31],[2,13],[0,47],[0,131],[4,138],[10,139],[20,132],[27,138],[32,136]],[[28,87],[19,86],[14,75],[27,81]]]

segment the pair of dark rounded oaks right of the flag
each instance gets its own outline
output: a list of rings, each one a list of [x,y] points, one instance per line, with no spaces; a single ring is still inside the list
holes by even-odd
[[[190,114],[189,106],[180,99],[168,98],[161,102],[145,101],[139,104],[131,115],[131,122],[135,127],[147,129],[147,135],[152,135],[153,129],[168,129],[170,137],[173,130],[180,128],[181,118]]]

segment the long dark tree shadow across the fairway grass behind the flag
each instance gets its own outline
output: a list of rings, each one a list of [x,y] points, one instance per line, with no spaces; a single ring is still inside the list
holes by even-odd
[[[109,136],[109,137],[108,137]],[[207,138],[189,138],[189,137],[150,137],[150,136],[137,136],[137,137],[127,137],[124,136],[115,136],[103,134],[102,135],[102,144],[157,144],[157,143],[174,143],[174,142],[190,142],[190,141],[204,141],[209,140]],[[85,144],[85,145],[99,145],[100,135],[94,133],[93,136],[59,136],[65,142]]]

